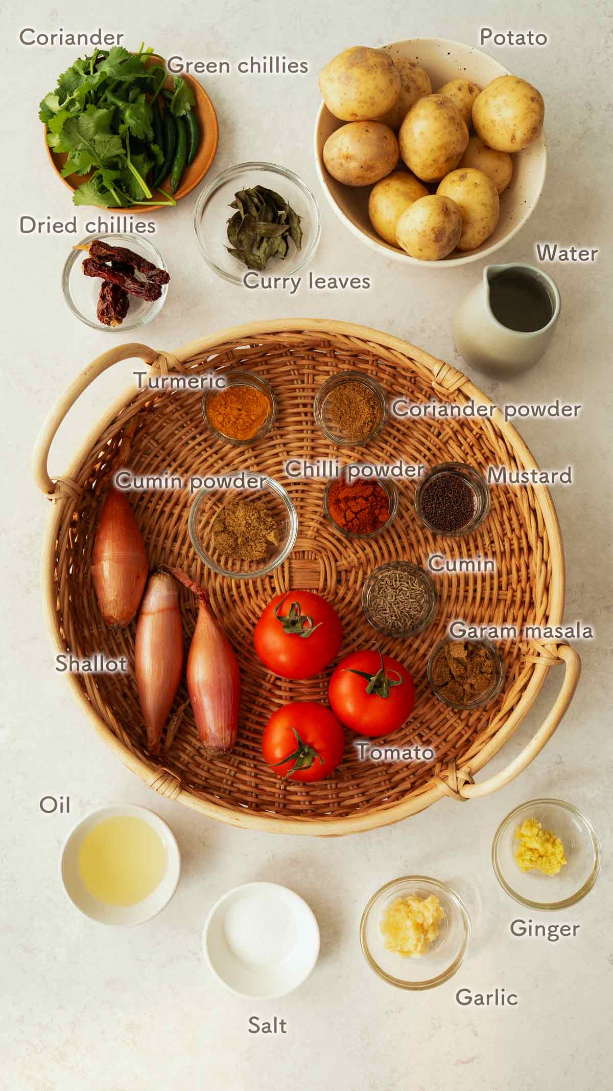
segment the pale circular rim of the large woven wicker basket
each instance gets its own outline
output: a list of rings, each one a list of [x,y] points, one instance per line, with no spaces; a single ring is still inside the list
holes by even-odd
[[[410,343],[393,335],[385,334],[382,331],[335,320],[275,319],[244,323],[226,329],[217,331],[206,337],[189,341],[173,352],[152,350],[147,346],[138,345],[136,343],[131,343],[130,345],[123,347],[134,348],[134,358],[138,356],[138,349],[144,349],[147,350],[154,359],[159,359],[161,357],[170,361],[174,359],[180,363],[184,363],[193,357],[214,350],[217,346],[223,345],[230,340],[235,340],[237,345],[241,345],[242,341],[247,345],[250,343],[257,343],[260,336],[283,333],[320,334],[322,336],[344,335],[355,338],[360,345],[366,345],[372,350],[377,350],[379,346],[392,349],[393,351],[400,352],[403,357],[408,357],[409,359],[419,362],[421,365],[425,365],[431,372],[432,379],[439,380],[439,382],[441,377],[444,377],[444,375],[453,372],[455,375],[459,376],[462,392],[468,398],[474,399],[480,405],[491,406],[493,404],[492,400],[466,375],[451,364],[448,364],[426,352],[424,349],[417,348]],[[125,358],[131,359],[132,356]],[[169,370],[172,370],[172,368]],[[130,386],[127,386],[123,393],[118,396],[107,411],[95,422],[93,428],[89,429],[78,445],[77,452],[74,455],[66,473],[62,477],[65,477],[69,480],[78,479],[82,464],[89,454],[93,444],[95,444],[95,442],[99,439],[105,429],[117,419],[118,413],[124,408],[124,406],[134,399],[134,396],[135,386],[134,384],[130,384]],[[504,420],[500,410],[496,409],[494,411],[492,421],[503,432],[510,446],[513,448],[514,453],[522,458],[526,468],[538,469],[538,463],[536,461],[530,448],[527,446],[514,425]],[[44,432],[45,427],[42,429],[42,433]],[[37,481],[39,484],[40,478],[41,475],[39,472],[37,475]],[[565,565],[562,536],[557,515],[549,489],[544,485],[535,485],[534,490],[539,500],[539,506],[543,516],[551,548],[556,551],[556,564],[553,567],[548,590],[549,624],[557,625],[562,622],[565,590]],[[60,502],[53,504],[51,507],[44,541],[41,566],[41,590],[46,603],[45,616],[49,626],[52,644],[59,652],[65,651],[65,644],[60,633],[59,616],[54,608],[54,547],[61,517],[62,504]],[[490,762],[491,758],[500,752],[507,739],[513,734],[517,726],[525,718],[544,683],[550,666],[551,661],[547,660],[542,663],[535,662],[530,681],[524,688],[514,711],[510,715],[505,723],[503,723],[495,732],[495,734],[492,735],[485,746],[481,747],[479,753],[470,758],[469,762],[464,764],[463,771],[466,772],[469,778],[482,769],[488,762]],[[426,790],[422,790],[400,803],[392,804],[389,807],[378,807],[376,811],[370,811],[364,814],[358,813],[356,815],[345,816],[342,818],[280,818],[273,816],[272,814],[268,817],[265,812],[253,813],[247,807],[245,807],[244,813],[242,810],[230,811],[225,806],[214,804],[208,800],[201,800],[194,795],[191,791],[182,789],[181,782],[171,770],[167,770],[163,767],[156,767],[156,769],[151,770],[151,768],[140,757],[134,755],[126,747],[124,747],[124,745],[109,729],[105,720],[91,708],[84,691],[78,684],[77,678],[70,672],[68,672],[66,678],[75,696],[83,707],[83,710],[93,722],[97,734],[112,751],[114,751],[127,768],[135,772],[148,787],[155,789],[160,794],[165,795],[169,799],[177,800],[201,814],[206,814],[209,817],[222,820],[229,825],[238,826],[241,828],[248,827],[253,829],[263,829],[279,834],[317,834],[319,836],[339,836],[343,834],[375,829],[401,822],[412,814],[417,814],[420,811],[426,810],[445,794],[452,795],[456,799],[466,798],[461,795],[457,789],[454,790],[450,788],[450,786],[444,783],[439,778],[438,782],[434,782],[432,787],[428,787]]]

